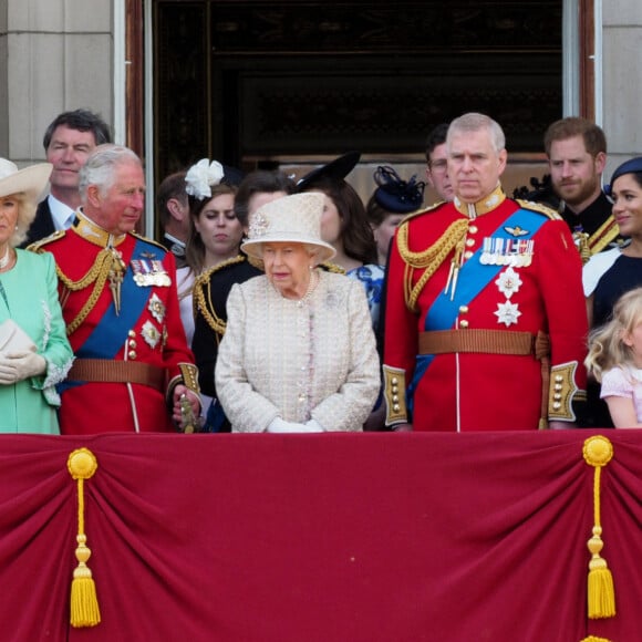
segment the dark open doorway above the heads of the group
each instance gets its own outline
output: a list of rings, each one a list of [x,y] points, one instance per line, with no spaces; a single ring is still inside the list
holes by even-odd
[[[416,155],[436,124],[495,117],[539,153],[562,111],[562,0],[158,0],[157,177],[356,148]]]

